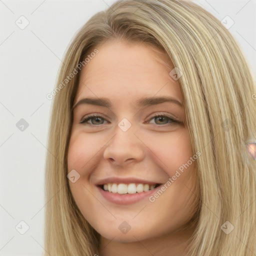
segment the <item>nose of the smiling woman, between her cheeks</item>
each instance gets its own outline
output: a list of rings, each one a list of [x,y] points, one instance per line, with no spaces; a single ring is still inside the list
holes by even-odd
[[[104,159],[115,165],[123,165],[131,161],[141,161],[144,158],[145,145],[133,133],[132,128],[123,131],[117,126],[114,132],[114,136],[107,143],[103,152]]]

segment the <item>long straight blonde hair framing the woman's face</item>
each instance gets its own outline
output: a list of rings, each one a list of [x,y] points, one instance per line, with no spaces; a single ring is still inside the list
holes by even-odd
[[[256,89],[230,32],[187,0],[119,0],[92,16],[73,38],[51,93],[45,255],[98,253],[100,235],[77,208],[68,186],[67,150],[79,79],[77,65],[111,39],[157,47],[182,71],[179,83],[186,122],[193,150],[201,152],[196,160],[199,210],[185,255],[255,255],[256,161],[245,145],[256,142]],[[228,234],[224,231],[227,226],[233,226]]]

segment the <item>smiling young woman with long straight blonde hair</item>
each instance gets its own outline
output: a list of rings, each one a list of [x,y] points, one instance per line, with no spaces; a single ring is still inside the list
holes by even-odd
[[[185,0],[117,1],[63,62],[45,251],[255,255],[255,87],[220,21]]]

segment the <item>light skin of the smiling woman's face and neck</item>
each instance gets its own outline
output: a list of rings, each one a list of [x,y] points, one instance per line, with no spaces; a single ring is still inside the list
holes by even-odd
[[[116,204],[102,197],[95,185],[107,176],[163,184],[194,155],[183,105],[136,105],[141,98],[160,96],[183,103],[179,82],[169,75],[173,66],[168,69],[166,56],[145,44],[110,40],[95,48],[99,52],[81,70],[74,104],[104,97],[111,106],[73,108],[67,161],[68,171],[75,169],[80,178],[69,180],[72,196],[101,235],[99,256],[183,255],[194,231],[187,224],[196,207],[194,162],[154,202],[147,197]],[[93,113],[101,117],[80,123]],[[153,117],[157,114],[165,117]],[[123,118],[131,124],[127,131],[118,126]],[[127,233],[118,228],[123,221],[131,227]]]

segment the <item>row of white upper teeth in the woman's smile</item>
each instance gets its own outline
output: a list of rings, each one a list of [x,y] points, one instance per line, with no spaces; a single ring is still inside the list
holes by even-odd
[[[135,183],[130,183],[130,184],[116,184],[116,183],[107,183],[103,185],[104,190],[108,190],[109,192],[112,193],[118,193],[118,194],[134,194],[134,193],[140,193],[143,191],[148,191],[153,189],[156,186],[156,184],[149,185],[149,184],[135,184]]]

